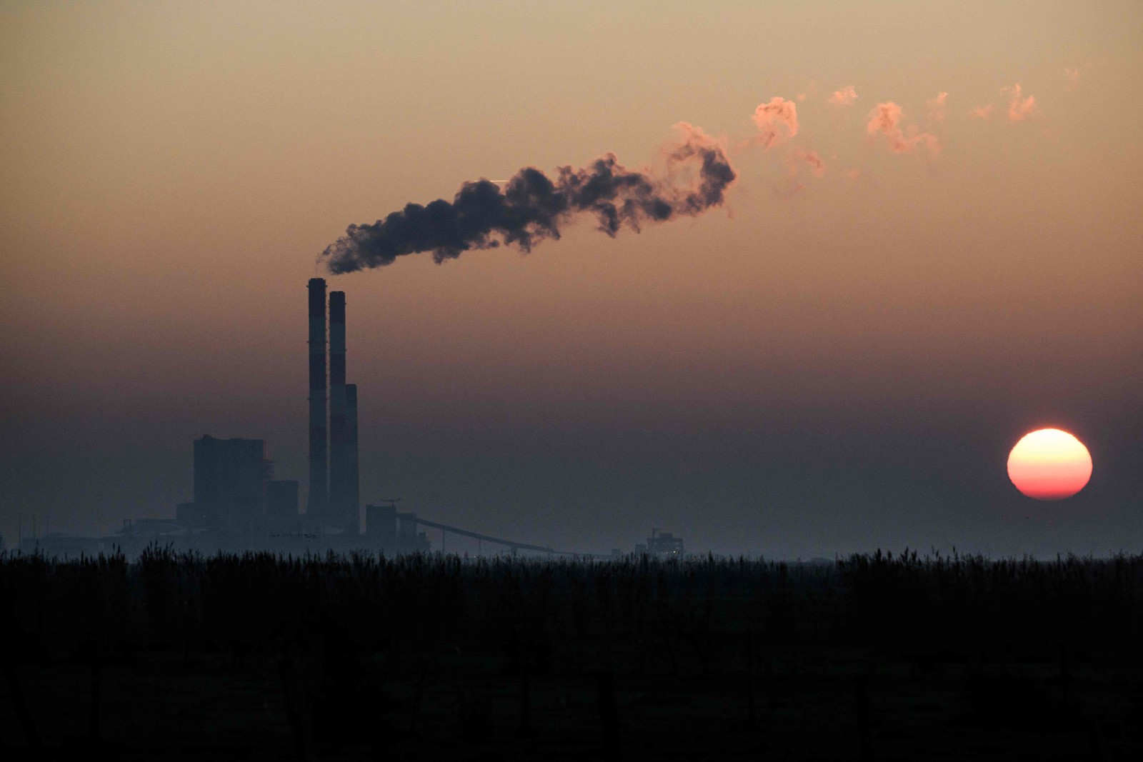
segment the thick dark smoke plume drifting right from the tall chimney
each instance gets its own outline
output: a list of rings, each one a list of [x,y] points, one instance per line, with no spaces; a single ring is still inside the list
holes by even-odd
[[[612,153],[582,169],[560,167],[554,178],[526,167],[503,190],[486,179],[464,183],[451,203],[409,203],[373,224],[350,225],[321,260],[335,274],[421,251],[432,251],[439,264],[502,243],[530,251],[580,215],[594,216],[613,238],[624,226],[639,232],[646,222],[698,215],[722,203],[736,175],[717,141],[686,122],[676,128],[679,141],[664,151],[665,177],[628,169]]]

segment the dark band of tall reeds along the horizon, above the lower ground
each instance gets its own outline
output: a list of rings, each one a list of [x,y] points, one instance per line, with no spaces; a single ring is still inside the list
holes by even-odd
[[[1054,562],[916,552],[831,566],[416,554],[200,555],[147,548],[0,556],[0,617],[17,660],[93,644],[122,658],[282,652],[301,631],[358,651],[495,653],[509,671],[719,673],[925,656],[1137,663],[1143,556]],[[800,665],[800,666],[799,666]],[[753,668],[754,665],[752,665]]]

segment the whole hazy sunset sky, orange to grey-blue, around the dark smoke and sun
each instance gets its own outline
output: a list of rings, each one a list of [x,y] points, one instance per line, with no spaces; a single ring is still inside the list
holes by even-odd
[[[203,434],[304,496],[325,276],[363,502],[594,552],[1141,552],[1141,39],[1130,1],[0,3],[0,532],[174,515]],[[680,122],[735,173],[701,214],[321,258],[526,167],[679,198]],[[1007,478],[1046,426],[1092,454],[1066,500]]]

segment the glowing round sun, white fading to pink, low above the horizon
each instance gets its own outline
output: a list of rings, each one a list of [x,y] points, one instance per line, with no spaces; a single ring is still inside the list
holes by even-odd
[[[1084,443],[1058,428],[1025,434],[1008,455],[1008,479],[1038,500],[1062,500],[1092,478],[1092,455]]]

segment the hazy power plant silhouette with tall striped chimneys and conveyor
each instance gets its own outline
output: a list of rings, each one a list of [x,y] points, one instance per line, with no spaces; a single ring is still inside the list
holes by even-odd
[[[429,521],[398,511],[399,498],[365,505],[362,516],[358,388],[346,383],[345,371],[345,292],[330,291],[327,304],[322,278],[310,279],[307,290],[310,489],[304,513],[298,482],[274,478],[265,440],[203,434],[194,440],[193,500],[178,504],[174,519],[125,519],[119,532],[107,537],[37,536],[33,529],[32,536],[17,540],[19,551],[79,555],[120,548],[133,555],[160,544],[207,553],[373,551],[394,555],[429,552],[432,544],[426,531],[421,531],[424,528],[440,530],[441,551],[453,534],[475,539],[478,553],[488,544],[489,550],[512,554],[592,555]],[[685,553],[681,538],[657,528],[634,550],[664,556]],[[608,555],[620,554],[615,548]]]

